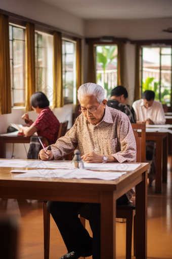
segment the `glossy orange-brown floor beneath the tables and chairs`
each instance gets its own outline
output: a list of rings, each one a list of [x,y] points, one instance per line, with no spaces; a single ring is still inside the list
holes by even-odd
[[[172,259],[172,180],[169,164],[168,182],[162,185],[162,194],[155,195],[154,190],[153,182],[153,186],[148,187],[148,259]],[[18,259],[44,259],[42,203],[26,200],[8,200],[7,203],[0,199],[0,214],[17,215],[19,218]],[[117,258],[124,259],[125,223],[117,222],[116,228]],[[92,235],[88,222],[87,229]],[[51,218],[50,259],[58,259],[66,252]]]

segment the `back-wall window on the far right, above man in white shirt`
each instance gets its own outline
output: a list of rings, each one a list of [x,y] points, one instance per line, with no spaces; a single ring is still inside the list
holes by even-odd
[[[142,48],[142,92],[152,90],[155,100],[171,106],[171,47]]]

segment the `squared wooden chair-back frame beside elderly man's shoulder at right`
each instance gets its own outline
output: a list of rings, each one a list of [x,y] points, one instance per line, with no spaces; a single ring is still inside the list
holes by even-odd
[[[144,123],[132,123],[133,130],[141,130],[141,142],[142,142],[142,163],[146,162],[146,124]]]

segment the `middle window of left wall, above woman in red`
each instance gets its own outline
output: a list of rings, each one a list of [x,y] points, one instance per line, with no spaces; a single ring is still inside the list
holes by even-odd
[[[53,36],[35,31],[36,91],[47,95],[53,105]]]

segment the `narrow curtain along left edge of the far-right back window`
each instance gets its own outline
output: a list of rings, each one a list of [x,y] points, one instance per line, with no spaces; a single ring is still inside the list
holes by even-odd
[[[136,63],[135,63],[135,100],[142,98],[140,86],[140,45],[136,44]]]

